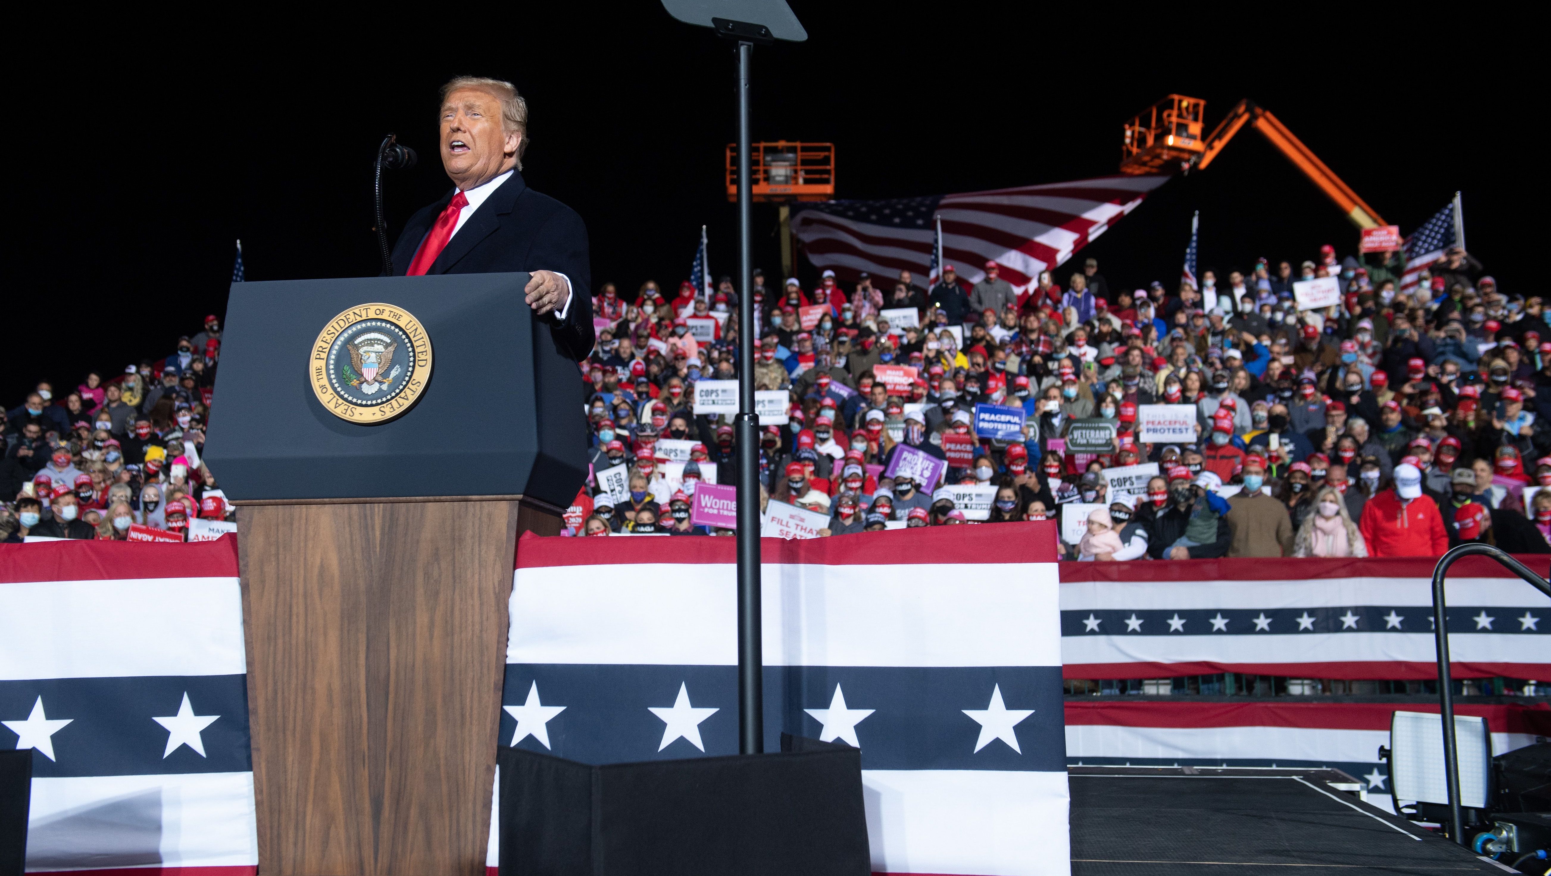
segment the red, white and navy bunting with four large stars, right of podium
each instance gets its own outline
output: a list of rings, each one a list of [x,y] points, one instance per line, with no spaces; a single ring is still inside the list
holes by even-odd
[[[765,750],[861,749],[875,873],[1067,876],[1053,530],[762,540]],[[591,541],[518,544],[501,744],[737,754],[735,540]]]

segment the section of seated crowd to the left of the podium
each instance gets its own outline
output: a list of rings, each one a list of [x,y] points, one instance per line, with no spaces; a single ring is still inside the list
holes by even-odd
[[[0,543],[26,538],[188,538],[189,521],[231,521],[200,459],[220,360],[205,319],[164,360],[42,381],[0,420]],[[65,389],[65,388],[59,388]]]

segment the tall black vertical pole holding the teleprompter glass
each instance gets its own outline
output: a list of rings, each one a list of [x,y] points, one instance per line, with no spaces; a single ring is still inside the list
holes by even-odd
[[[738,752],[765,750],[760,642],[760,426],[754,412],[754,262],[749,250],[749,60],[738,43]]]

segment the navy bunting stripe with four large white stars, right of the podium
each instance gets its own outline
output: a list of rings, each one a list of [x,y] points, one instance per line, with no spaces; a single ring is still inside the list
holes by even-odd
[[[684,710],[715,712],[684,712],[698,721],[670,724],[681,690]],[[509,664],[501,744],[512,744],[523,716],[520,747],[583,763],[732,755],[737,690],[737,667]],[[670,726],[698,730],[704,750]],[[1061,667],[766,667],[766,750],[777,750],[782,730],[811,738],[831,730],[841,741],[855,733],[869,771],[1061,771]]]

